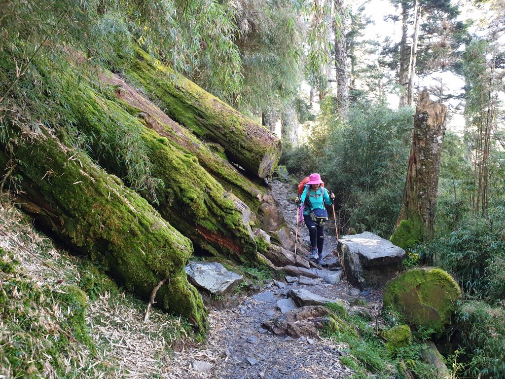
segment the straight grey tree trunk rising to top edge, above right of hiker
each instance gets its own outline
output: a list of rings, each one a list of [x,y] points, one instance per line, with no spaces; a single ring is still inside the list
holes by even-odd
[[[335,17],[335,71],[337,80],[337,108],[342,119],[349,110],[349,84],[347,82],[347,48],[345,45],[345,5],[344,0],[334,0]]]

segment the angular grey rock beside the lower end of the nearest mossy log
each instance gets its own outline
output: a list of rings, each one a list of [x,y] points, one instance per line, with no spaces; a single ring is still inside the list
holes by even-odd
[[[214,295],[232,291],[242,281],[242,276],[228,271],[219,262],[190,262],[185,267],[189,282]]]

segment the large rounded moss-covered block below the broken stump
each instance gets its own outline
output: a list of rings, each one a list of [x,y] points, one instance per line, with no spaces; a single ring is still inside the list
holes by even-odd
[[[461,297],[458,283],[439,268],[416,268],[387,282],[384,308],[425,333],[438,333],[450,322]]]

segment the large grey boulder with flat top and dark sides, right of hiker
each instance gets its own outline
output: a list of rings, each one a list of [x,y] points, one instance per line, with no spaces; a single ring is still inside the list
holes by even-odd
[[[405,250],[368,231],[344,235],[340,242],[347,278],[360,290],[365,285],[383,287],[396,276],[399,264],[406,257]]]

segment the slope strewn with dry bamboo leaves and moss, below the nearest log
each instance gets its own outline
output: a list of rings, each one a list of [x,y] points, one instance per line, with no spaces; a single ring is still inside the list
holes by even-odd
[[[0,377],[152,377],[190,325],[125,294],[0,199]],[[130,346],[143,350],[131,363]],[[156,359],[155,359],[156,356]]]

